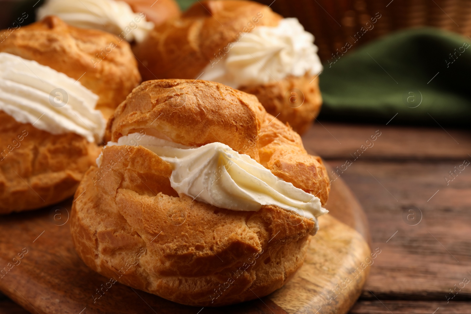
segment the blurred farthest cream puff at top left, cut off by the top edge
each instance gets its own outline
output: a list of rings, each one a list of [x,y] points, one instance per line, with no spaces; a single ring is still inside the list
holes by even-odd
[[[154,25],[179,16],[180,9],[175,0],[46,0],[38,9],[38,20],[52,15],[72,26],[139,42]]]

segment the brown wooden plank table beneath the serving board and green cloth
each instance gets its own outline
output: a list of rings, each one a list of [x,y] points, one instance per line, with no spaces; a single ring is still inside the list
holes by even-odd
[[[305,145],[357,195],[382,251],[350,313],[471,313],[470,132],[321,123]],[[0,296],[0,314],[13,313],[27,312]]]

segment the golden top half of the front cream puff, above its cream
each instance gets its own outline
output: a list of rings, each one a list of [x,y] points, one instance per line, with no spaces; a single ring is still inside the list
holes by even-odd
[[[251,94],[210,81],[146,81],[108,120],[106,138],[116,142],[141,130],[186,146],[226,144],[327,201],[330,185],[320,157],[309,155],[300,136]]]

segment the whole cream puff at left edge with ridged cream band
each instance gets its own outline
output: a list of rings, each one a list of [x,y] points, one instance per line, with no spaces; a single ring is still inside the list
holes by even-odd
[[[72,196],[95,164],[103,113],[140,80],[127,42],[92,62],[113,40],[51,16],[0,43],[0,214]]]

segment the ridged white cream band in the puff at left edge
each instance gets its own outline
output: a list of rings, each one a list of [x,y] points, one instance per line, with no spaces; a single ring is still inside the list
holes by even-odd
[[[49,66],[0,53],[0,110],[52,134],[73,132],[101,141],[106,121],[98,96]]]

